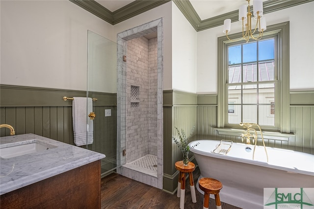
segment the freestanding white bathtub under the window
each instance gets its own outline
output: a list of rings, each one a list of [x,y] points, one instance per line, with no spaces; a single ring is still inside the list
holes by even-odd
[[[211,153],[220,141],[197,140],[189,143],[201,176],[219,180],[220,199],[242,209],[263,208],[263,188],[314,188],[314,155],[233,143],[226,155]],[[195,146],[198,144],[198,146]],[[249,149],[251,148],[250,152]],[[196,184],[197,189],[203,193]]]

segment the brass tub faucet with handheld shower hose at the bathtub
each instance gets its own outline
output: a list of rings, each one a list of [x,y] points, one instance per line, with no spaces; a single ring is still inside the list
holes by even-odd
[[[263,146],[265,149],[265,153],[266,153],[266,157],[267,157],[267,162],[268,162],[268,154],[267,154],[267,150],[266,150],[266,146],[265,146],[265,142],[264,142],[264,137],[263,137],[263,133],[262,133],[262,129],[260,127],[259,124],[256,123],[240,123],[240,126],[243,126],[246,128],[246,133],[242,133],[241,134],[241,139],[242,142],[245,139],[247,144],[251,144],[251,139],[253,140],[253,144],[254,144],[254,151],[253,151],[253,160],[254,160],[254,155],[255,155],[255,148],[256,148],[256,143],[257,143],[257,131],[255,129],[252,128],[252,126],[257,126],[261,132],[261,136],[262,136],[262,142],[263,142]],[[251,134],[250,131],[254,131],[255,134]]]

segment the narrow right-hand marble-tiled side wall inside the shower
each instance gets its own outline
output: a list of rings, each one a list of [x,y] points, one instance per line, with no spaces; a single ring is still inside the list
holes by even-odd
[[[148,71],[149,71],[149,132],[148,154],[157,156],[157,37],[149,40]]]

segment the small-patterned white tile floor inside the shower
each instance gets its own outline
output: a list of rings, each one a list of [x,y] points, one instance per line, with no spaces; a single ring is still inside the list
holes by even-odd
[[[123,165],[123,167],[157,177],[157,156],[146,155]]]

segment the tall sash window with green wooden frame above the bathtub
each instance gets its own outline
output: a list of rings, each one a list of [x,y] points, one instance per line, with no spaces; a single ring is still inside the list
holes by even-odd
[[[261,40],[248,43],[218,38],[218,128],[247,122],[290,131],[288,25],[267,26]]]

